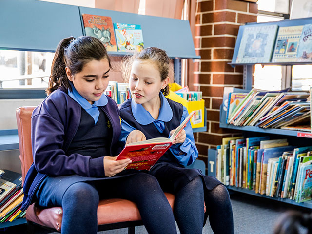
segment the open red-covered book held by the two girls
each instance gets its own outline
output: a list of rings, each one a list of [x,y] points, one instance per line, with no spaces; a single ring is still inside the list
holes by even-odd
[[[193,117],[192,111],[176,128],[170,138],[156,137],[149,140],[129,143],[119,154],[116,160],[131,158],[132,162],[125,169],[150,170],[156,161],[163,156],[176,139],[177,135]]]

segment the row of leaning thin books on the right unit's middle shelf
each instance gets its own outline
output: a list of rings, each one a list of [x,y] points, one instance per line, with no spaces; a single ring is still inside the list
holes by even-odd
[[[263,92],[252,89],[249,93],[230,93],[226,121],[235,126],[310,132],[309,96],[309,93],[285,90]]]

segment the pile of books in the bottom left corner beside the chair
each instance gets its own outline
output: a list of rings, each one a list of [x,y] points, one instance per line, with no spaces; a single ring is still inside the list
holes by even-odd
[[[21,174],[10,170],[0,170],[0,223],[12,222],[25,216],[20,210],[24,193],[21,187]]]

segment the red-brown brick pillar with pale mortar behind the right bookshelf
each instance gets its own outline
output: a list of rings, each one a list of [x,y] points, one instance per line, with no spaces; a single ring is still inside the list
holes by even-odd
[[[232,61],[239,25],[257,20],[257,4],[242,0],[197,0],[195,13],[195,50],[201,59],[194,64],[194,88],[203,92],[207,108],[207,132],[195,134],[200,158],[222,143],[223,137],[238,132],[219,128],[219,107],[223,88],[242,88],[243,68]],[[190,82],[192,82],[192,80]],[[196,87],[197,86],[197,87]]]

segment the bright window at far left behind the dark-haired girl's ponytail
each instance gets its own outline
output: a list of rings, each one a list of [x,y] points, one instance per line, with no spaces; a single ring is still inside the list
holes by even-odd
[[[0,50],[0,88],[42,88],[48,77],[54,53]]]

